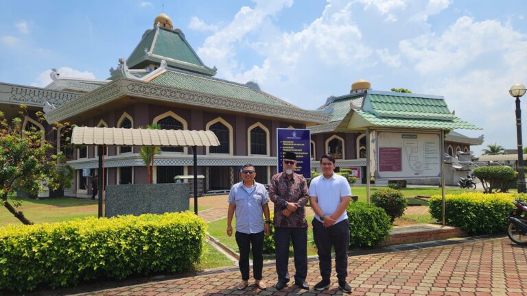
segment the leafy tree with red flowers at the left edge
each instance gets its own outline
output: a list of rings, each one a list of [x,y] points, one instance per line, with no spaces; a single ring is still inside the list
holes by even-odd
[[[33,224],[27,219],[20,201],[13,193],[23,191],[37,195],[43,186],[51,190],[68,187],[73,179],[73,169],[65,164],[65,157],[56,151],[44,138],[44,131],[31,126],[22,130],[22,119],[27,110],[21,105],[19,116],[11,122],[0,112],[0,199],[3,206],[24,224]],[[42,113],[36,112],[39,121]],[[54,128],[56,130],[56,128]]]

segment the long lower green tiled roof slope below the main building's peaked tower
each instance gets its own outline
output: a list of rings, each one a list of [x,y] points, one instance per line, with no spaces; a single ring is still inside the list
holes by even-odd
[[[150,80],[150,82],[208,95],[242,99],[245,101],[264,103],[273,106],[296,108],[285,101],[281,101],[280,99],[254,90],[253,88],[249,88],[248,86],[231,84],[218,79],[204,78],[175,71],[165,71],[165,73],[155,77]]]

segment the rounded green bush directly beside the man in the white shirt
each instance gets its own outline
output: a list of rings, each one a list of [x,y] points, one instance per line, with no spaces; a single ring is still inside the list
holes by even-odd
[[[347,208],[349,246],[373,247],[390,235],[393,225],[382,208],[355,202]]]

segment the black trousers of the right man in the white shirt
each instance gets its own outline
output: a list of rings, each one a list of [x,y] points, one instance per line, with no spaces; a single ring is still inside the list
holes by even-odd
[[[313,219],[313,236],[318,249],[318,267],[323,280],[331,276],[331,246],[335,247],[335,270],[338,280],[346,280],[348,275],[348,245],[349,222],[348,219],[340,221],[331,227]]]

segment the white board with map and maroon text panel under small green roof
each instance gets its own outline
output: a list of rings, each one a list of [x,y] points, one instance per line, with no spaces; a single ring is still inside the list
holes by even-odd
[[[377,133],[377,177],[379,179],[440,176],[440,134]]]

